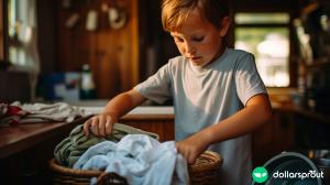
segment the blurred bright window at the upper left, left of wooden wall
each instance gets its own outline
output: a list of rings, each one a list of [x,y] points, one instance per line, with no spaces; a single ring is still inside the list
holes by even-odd
[[[24,70],[38,72],[35,0],[8,1],[8,61]]]

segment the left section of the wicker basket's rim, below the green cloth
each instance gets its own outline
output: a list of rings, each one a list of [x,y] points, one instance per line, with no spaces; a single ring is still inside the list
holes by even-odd
[[[64,173],[72,176],[99,176],[102,174],[102,171],[96,171],[96,170],[78,170],[78,168],[69,168],[66,166],[62,166],[56,163],[55,159],[52,159],[50,161],[50,167],[57,172],[57,173]]]

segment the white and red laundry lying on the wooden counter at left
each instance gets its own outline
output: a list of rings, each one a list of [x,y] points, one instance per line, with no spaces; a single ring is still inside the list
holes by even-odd
[[[31,122],[70,122],[88,113],[82,109],[66,102],[56,104],[0,104],[0,126]]]

